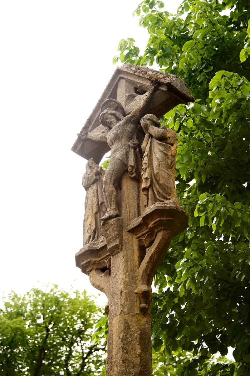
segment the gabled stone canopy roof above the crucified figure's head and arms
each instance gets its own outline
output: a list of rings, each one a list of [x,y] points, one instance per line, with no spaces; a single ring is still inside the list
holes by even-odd
[[[180,103],[187,105],[188,102],[194,101],[185,82],[179,77],[125,63],[122,67],[116,68],[80,135],[91,132],[100,125],[101,106],[107,99],[118,100],[124,107],[125,114],[130,114],[140,104],[153,79],[157,79],[160,85],[143,115],[153,114],[159,119]],[[85,159],[93,158],[98,164],[110,148],[105,142],[82,140],[78,137],[71,150]]]

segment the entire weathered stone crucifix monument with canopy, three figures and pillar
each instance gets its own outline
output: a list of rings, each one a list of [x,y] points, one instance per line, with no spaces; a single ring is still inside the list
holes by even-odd
[[[152,280],[188,223],[175,189],[176,132],[158,119],[190,101],[177,76],[124,64],[72,147],[88,159],[76,266],[109,301],[107,376],[152,376]],[[98,164],[109,150],[104,171]]]

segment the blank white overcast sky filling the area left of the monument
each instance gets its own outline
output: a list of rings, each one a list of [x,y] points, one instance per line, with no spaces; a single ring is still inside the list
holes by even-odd
[[[86,160],[70,149],[115,70],[120,39],[146,47],[132,17],[139,2],[0,2],[0,292],[51,282],[98,293],[74,264]],[[180,2],[164,9],[176,13]]]

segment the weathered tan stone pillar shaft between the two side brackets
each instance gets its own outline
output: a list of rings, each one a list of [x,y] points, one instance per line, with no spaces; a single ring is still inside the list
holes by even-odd
[[[137,203],[133,183],[128,175],[122,178],[122,197],[125,198],[121,200],[120,209],[123,218],[120,228],[122,247],[121,252],[111,258],[107,376],[152,375],[150,309],[146,315],[140,312],[140,296],[135,292],[138,241],[133,233],[127,231],[129,206]]]

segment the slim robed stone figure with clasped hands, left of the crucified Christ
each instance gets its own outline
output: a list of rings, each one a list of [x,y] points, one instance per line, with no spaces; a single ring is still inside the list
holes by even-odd
[[[105,171],[97,165],[93,158],[86,164],[86,172],[82,177],[82,185],[86,192],[85,214],[83,220],[83,246],[103,237],[101,221],[106,212],[103,198],[103,177]]]

